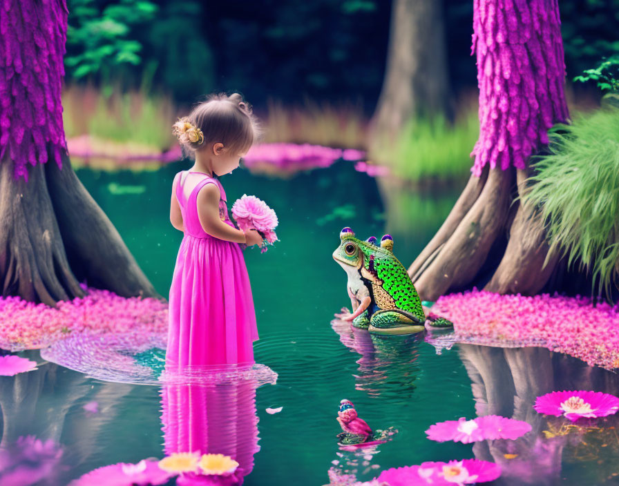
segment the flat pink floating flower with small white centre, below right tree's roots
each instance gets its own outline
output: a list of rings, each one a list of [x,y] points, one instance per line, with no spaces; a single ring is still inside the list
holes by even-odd
[[[460,418],[430,425],[426,430],[430,440],[445,442],[453,440],[464,444],[486,439],[517,439],[531,430],[531,425],[522,420],[497,415],[478,417],[473,420]]]

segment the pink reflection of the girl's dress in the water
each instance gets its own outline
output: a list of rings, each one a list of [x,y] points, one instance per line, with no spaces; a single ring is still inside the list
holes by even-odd
[[[187,484],[241,485],[244,476],[254,469],[254,454],[260,450],[257,386],[257,381],[251,378],[222,381],[216,380],[213,374],[211,382],[202,376],[200,383],[162,388],[166,456],[175,452],[224,454],[239,464],[232,476],[209,479],[188,475]]]

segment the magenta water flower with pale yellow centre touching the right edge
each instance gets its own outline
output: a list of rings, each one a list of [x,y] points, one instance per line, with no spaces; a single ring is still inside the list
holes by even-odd
[[[540,414],[562,415],[575,422],[580,417],[596,418],[615,414],[619,398],[601,391],[553,391],[538,396],[533,405]]]

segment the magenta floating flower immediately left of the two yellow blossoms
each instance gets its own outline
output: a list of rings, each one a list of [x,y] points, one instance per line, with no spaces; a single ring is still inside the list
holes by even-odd
[[[160,469],[157,460],[144,459],[137,464],[117,463],[99,467],[74,480],[69,486],[146,486],[167,483],[173,474]]]

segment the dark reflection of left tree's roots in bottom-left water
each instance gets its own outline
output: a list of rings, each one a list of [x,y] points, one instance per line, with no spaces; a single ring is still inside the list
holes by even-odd
[[[99,434],[117,418],[117,405],[131,390],[93,387],[83,375],[41,363],[37,355],[27,353],[38,369],[0,377],[1,485],[66,484],[70,468],[82,467],[102,451]],[[104,413],[87,413],[80,406],[86,402],[96,402]]]

